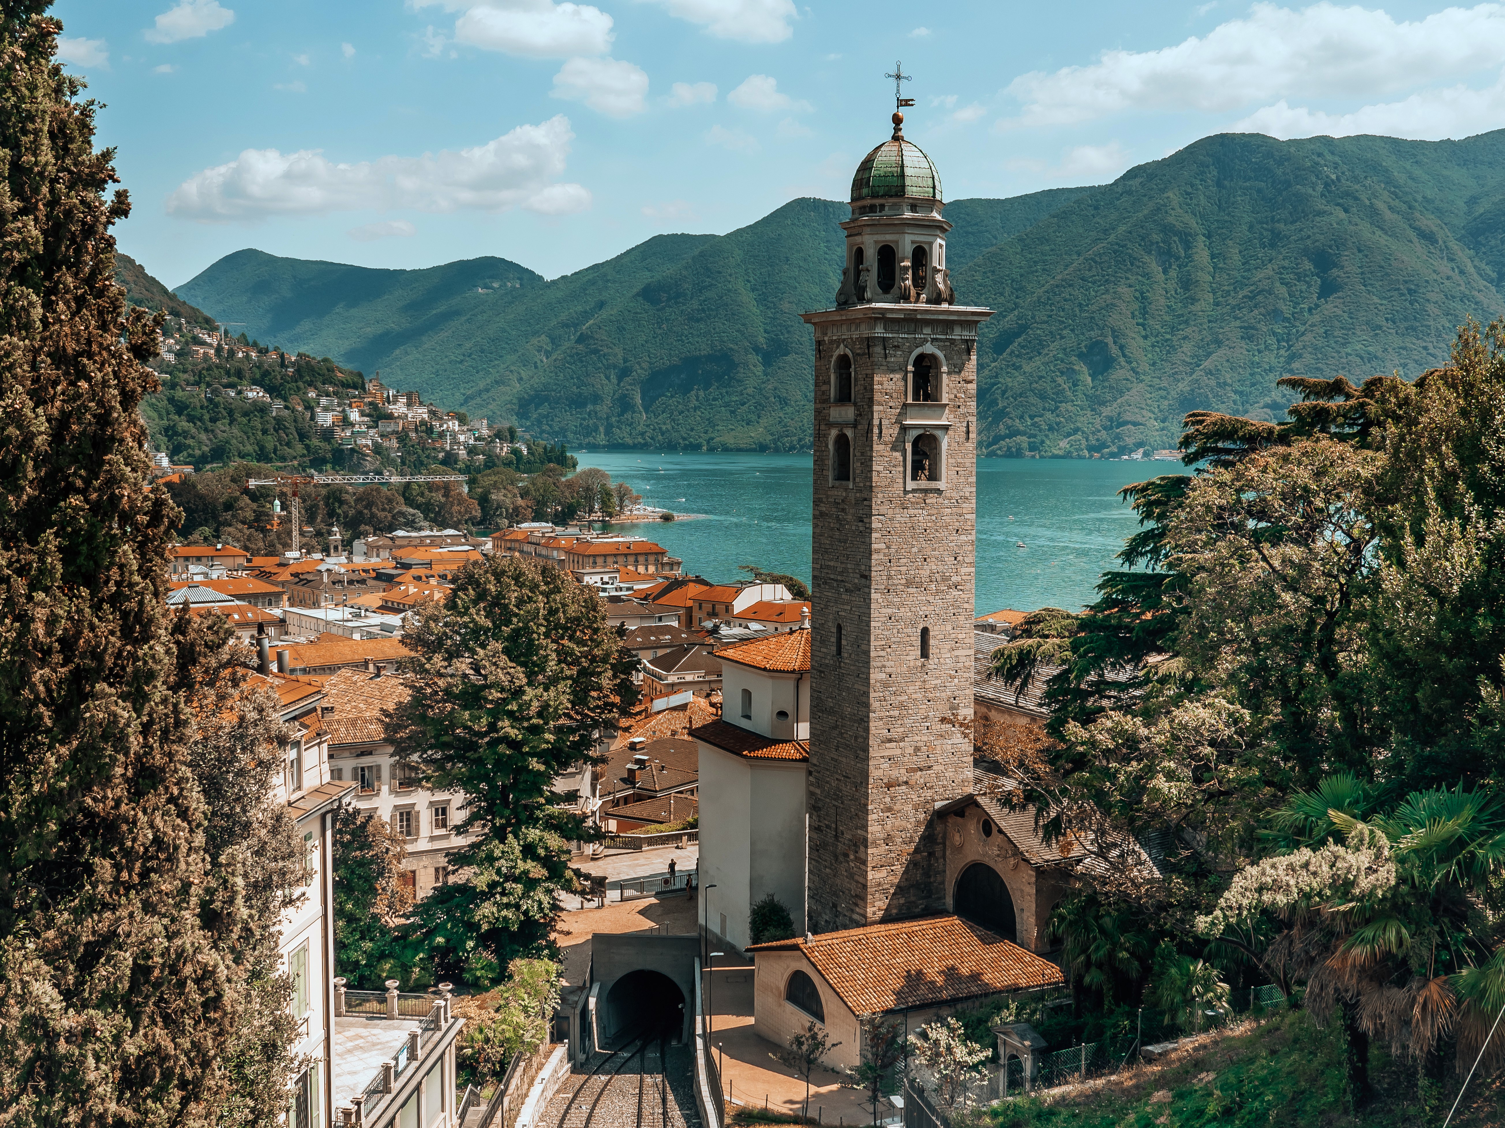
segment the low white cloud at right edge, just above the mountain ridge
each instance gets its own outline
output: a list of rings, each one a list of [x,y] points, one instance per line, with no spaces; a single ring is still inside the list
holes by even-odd
[[[1494,86],[1482,90],[1470,90],[1466,86],[1421,90],[1400,102],[1365,105],[1345,114],[1293,107],[1282,98],[1275,105],[1249,114],[1233,129],[1281,138],[1383,134],[1436,141],[1443,137],[1469,137],[1496,129],[1502,120],[1505,120],[1505,74]]]

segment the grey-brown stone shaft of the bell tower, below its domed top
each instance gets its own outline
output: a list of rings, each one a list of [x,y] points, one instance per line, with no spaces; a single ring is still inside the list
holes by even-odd
[[[971,790],[972,747],[954,722],[972,717],[975,352],[987,316],[926,305],[805,314],[816,329],[820,599],[811,636],[811,931],[945,907],[932,809]],[[944,362],[944,417],[939,405],[906,406],[923,349]],[[841,350],[852,358],[850,406],[831,403]],[[942,483],[908,481],[906,432],[926,423],[944,442]],[[834,429],[852,439],[850,481],[831,481]]]

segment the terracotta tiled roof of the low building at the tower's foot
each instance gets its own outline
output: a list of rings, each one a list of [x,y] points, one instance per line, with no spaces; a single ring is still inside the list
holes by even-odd
[[[798,951],[855,1014],[1064,984],[1061,969],[959,916],[775,940],[749,952]]]

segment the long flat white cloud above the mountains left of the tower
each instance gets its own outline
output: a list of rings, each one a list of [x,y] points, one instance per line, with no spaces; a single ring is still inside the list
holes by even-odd
[[[229,164],[205,168],[167,197],[167,212],[185,220],[262,220],[358,209],[408,208],[500,212],[527,208],[561,215],[590,206],[578,183],[557,183],[569,156],[569,119],[519,125],[494,141],[423,156],[379,156],[343,164],[316,149],[281,153],[247,149]]]

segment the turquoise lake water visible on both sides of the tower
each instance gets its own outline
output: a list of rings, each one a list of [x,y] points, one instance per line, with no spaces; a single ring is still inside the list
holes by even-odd
[[[759,564],[810,582],[808,454],[578,453],[626,481],[649,505],[704,514],[697,520],[634,523],[685,570],[716,582]],[[1175,463],[1085,459],[981,459],[977,463],[977,612],[999,608],[1081,608],[1096,599],[1133,513],[1118,489]],[[1017,547],[1023,541],[1026,547]],[[819,593],[817,593],[819,594]]]

